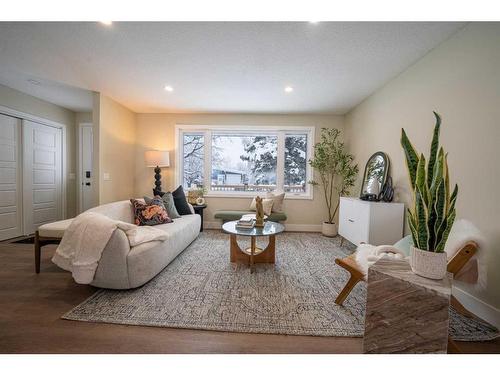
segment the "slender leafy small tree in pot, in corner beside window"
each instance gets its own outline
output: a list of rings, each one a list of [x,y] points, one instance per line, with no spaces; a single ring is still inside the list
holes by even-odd
[[[340,130],[321,129],[321,141],[314,146],[314,158],[309,160],[318,175],[311,180],[313,186],[321,186],[328,208],[328,221],[323,222],[322,233],[325,236],[337,235],[335,215],[339,209],[340,197],[349,195],[354,186],[358,166],[354,164],[354,156],[349,154],[340,141]]]

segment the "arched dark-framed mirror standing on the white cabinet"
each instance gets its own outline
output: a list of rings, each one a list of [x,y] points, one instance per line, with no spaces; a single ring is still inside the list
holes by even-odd
[[[365,166],[360,198],[378,200],[378,196],[389,174],[389,157],[385,152],[374,153]]]

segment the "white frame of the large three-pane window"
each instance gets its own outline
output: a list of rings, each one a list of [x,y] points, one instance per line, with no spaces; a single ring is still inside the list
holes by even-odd
[[[315,142],[315,127],[314,126],[263,126],[263,125],[188,125],[176,124],[175,125],[175,185],[183,183],[184,171],[184,156],[182,139],[185,133],[203,133],[204,139],[204,170],[203,181],[204,186],[207,187],[207,194],[205,197],[218,197],[218,198],[248,198],[255,196],[256,192],[229,192],[229,191],[212,191],[211,186],[211,173],[212,173],[212,133],[227,133],[228,135],[234,134],[248,134],[255,136],[258,134],[277,135],[278,137],[278,158],[276,165],[276,190],[284,191],[283,184],[285,180],[285,136],[294,134],[307,135],[307,151],[306,151],[306,191],[304,193],[286,193],[286,199],[313,199],[313,187],[307,183],[312,180],[313,170],[308,161],[313,157],[313,144]],[[208,161],[208,162],[207,162]]]

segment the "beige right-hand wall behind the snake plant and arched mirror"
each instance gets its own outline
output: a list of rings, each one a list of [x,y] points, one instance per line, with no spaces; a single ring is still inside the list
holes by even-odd
[[[392,162],[396,199],[411,202],[399,139],[404,127],[428,155],[441,114],[441,144],[458,183],[457,215],[474,222],[491,242],[488,290],[471,294],[500,307],[500,25],[469,24],[346,116],[348,144],[360,165],[375,151]],[[359,189],[359,184],[358,184]],[[358,190],[359,191],[359,190]]]

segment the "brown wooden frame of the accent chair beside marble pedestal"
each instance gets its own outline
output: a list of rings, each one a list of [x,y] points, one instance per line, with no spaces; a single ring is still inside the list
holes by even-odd
[[[464,247],[457,251],[457,253],[450,260],[448,260],[448,272],[451,272],[453,276],[456,276],[470,260],[470,258],[476,254],[477,250],[478,246],[475,242],[467,242]],[[337,305],[342,305],[356,284],[361,280],[365,280],[365,274],[356,262],[356,253],[353,253],[345,258],[337,258],[335,259],[335,263],[351,274],[351,277],[335,300]],[[454,305],[454,301],[456,301],[456,299],[452,299],[452,305]]]

